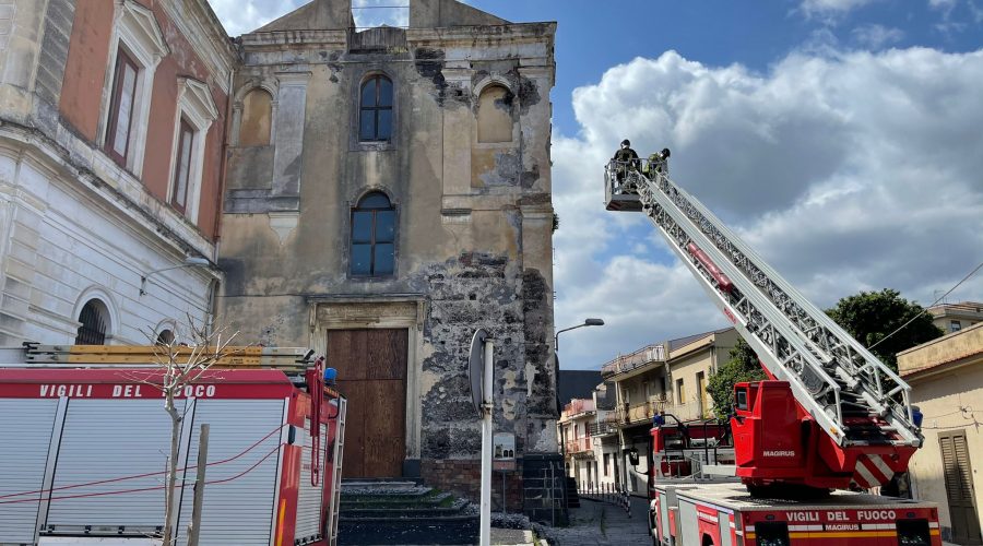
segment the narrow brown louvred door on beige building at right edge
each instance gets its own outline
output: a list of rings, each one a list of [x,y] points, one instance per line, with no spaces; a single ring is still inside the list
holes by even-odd
[[[980,519],[976,517],[973,472],[970,468],[966,431],[940,432],[938,446],[941,449],[952,538],[959,544],[983,544]]]

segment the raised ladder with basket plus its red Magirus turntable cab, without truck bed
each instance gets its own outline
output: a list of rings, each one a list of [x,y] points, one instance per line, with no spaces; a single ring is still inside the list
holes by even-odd
[[[606,206],[644,213],[757,353],[770,380],[738,383],[731,419],[749,492],[868,489],[905,472],[923,441],[911,388],[671,180],[667,158],[611,162]]]

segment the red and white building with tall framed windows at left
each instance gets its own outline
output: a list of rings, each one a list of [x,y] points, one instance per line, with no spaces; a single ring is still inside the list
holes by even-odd
[[[209,320],[235,64],[206,0],[0,2],[0,345]]]

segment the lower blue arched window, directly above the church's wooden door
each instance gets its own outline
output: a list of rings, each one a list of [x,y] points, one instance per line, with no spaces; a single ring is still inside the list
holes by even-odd
[[[395,210],[372,192],[352,210],[352,275],[383,276],[395,271]]]

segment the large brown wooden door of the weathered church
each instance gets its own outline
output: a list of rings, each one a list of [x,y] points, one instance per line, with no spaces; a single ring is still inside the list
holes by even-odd
[[[406,455],[406,330],[329,330],[328,366],[348,399],[343,477],[399,477]]]

